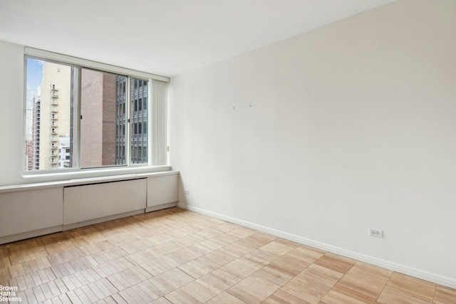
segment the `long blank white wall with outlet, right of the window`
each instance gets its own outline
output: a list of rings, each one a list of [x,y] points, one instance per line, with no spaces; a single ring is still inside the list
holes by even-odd
[[[172,78],[181,204],[456,288],[455,16],[396,1]]]

